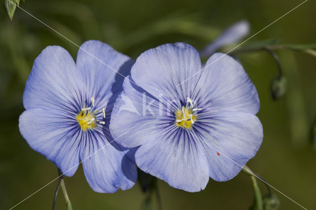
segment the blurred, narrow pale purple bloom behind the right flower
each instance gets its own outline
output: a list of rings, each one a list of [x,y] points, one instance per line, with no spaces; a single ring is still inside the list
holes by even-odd
[[[213,42],[209,43],[201,50],[201,57],[212,55],[219,48],[233,44],[249,34],[250,26],[248,21],[239,21],[229,28],[227,28],[221,35],[219,35]]]

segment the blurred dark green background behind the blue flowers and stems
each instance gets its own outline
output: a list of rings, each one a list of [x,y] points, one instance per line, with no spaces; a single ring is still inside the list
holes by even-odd
[[[20,6],[80,45],[99,39],[136,59],[163,43],[183,41],[201,49],[229,25],[246,19],[255,34],[303,0],[26,0]],[[278,38],[280,43],[316,42],[316,1],[308,0],[247,43]],[[22,94],[34,59],[47,45],[60,45],[74,58],[78,47],[17,8],[10,21],[0,9],[0,209],[13,207],[57,177],[55,166],[33,151],[18,130]],[[245,43],[245,44],[247,44]],[[242,47],[242,46],[241,46]],[[269,82],[276,63],[265,52],[238,54],[257,87],[264,140],[247,164],[268,183],[309,210],[316,210],[316,146],[310,134],[316,119],[316,58],[276,51],[287,77],[286,95],[271,99]],[[139,184],[127,191],[92,191],[79,167],[67,177],[74,210],[139,210],[145,195]],[[49,210],[57,180],[17,206]],[[267,190],[259,183],[262,193]],[[209,180],[205,190],[188,193],[158,181],[163,210],[246,210],[253,201],[250,179],[240,173],[227,182]],[[299,206],[274,193],[280,210]],[[57,210],[65,210],[62,193]]]

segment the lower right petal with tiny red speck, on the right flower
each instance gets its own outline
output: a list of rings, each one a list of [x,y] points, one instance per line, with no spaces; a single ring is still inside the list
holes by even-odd
[[[208,159],[209,175],[216,181],[235,177],[255,156],[263,139],[261,122],[250,113],[204,113],[194,126]]]

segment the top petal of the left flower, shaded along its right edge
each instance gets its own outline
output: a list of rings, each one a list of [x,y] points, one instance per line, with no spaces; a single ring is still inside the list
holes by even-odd
[[[87,84],[89,100],[94,97],[95,109],[106,105],[113,108],[118,94],[122,91],[124,76],[130,74],[134,61],[117,52],[108,44],[97,40],[84,42],[78,51],[77,67]]]

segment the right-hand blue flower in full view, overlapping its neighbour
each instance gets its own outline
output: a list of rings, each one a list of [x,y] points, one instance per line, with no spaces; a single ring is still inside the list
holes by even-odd
[[[263,139],[258,94],[242,66],[216,53],[200,70],[198,52],[188,44],[147,50],[131,69],[137,86],[124,80],[110,123],[121,145],[139,146],[141,170],[189,192],[204,189],[209,177],[236,176]]]

